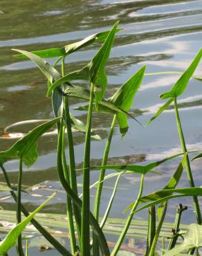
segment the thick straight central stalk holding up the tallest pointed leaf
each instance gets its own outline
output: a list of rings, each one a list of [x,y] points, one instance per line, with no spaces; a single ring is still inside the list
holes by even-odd
[[[91,84],[89,111],[86,122],[86,137],[84,145],[83,164],[83,201],[82,201],[82,256],[90,255],[90,156],[91,156],[91,119],[93,111],[94,84]]]

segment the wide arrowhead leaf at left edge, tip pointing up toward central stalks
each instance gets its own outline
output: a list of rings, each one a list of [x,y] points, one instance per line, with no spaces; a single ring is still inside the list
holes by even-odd
[[[48,129],[50,129],[56,122],[60,120],[55,118],[49,122],[45,122],[42,125],[37,126],[30,131],[26,136],[17,140],[17,142],[10,147],[10,149],[0,152],[0,164],[3,165],[6,161],[22,158],[24,164],[30,167],[35,163],[38,158],[37,152],[37,139],[42,136]]]

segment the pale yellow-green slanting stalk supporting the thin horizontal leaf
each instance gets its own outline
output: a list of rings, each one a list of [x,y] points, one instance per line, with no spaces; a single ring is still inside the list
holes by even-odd
[[[142,174],[142,176],[141,176],[140,191],[139,191],[139,194],[138,194],[138,198],[137,198],[136,202],[134,203],[133,208],[131,209],[131,213],[127,217],[127,221],[125,223],[125,227],[123,228],[123,230],[122,230],[122,232],[120,234],[120,237],[118,238],[116,246],[113,248],[113,250],[111,252],[111,256],[116,256],[117,255],[117,253],[118,253],[118,251],[120,249],[120,246],[122,245],[122,241],[123,241],[123,239],[125,239],[125,235],[127,234],[127,230],[129,229],[131,221],[132,221],[132,219],[134,217],[134,212],[135,212],[136,208],[138,207],[139,201],[140,201],[140,199],[142,197],[143,185],[144,185],[144,174]]]

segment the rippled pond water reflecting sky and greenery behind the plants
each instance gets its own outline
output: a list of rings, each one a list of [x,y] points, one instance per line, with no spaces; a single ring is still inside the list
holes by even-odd
[[[185,0],[56,0],[45,1],[13,1],[0,2],[0,129],[12,123],[30,119],[53,118],[50,99],[46,98],[46,80],[35,65],[27,60],[12,57],[11,48],[27,51],[64,46],[102,30],[109,30],[120,20],[122,31],[118,33],[116,42],[107,64],[109,84],[106,98],[140,66],[147,65],[147,73],[160,71],[183,71],[201,48],[202,39],[202,1]],[[98,50],[100,45],[93,45],[66,58],[66,71],[74,71],[84,66]],[[48,60],[53,64],[53,60]],[[199,66],[196,75],[201,75]],[[178,79],[177,75],[158,75],[145,77],[138,91],[131,113],[145,124],[156,112],[162,101],[160,93],[167,91]],[[179,99],[180,115],[188,149],[202,148],[202,84],[191,80],[187,91]],[[81,104],[71,99],[71,107]],[[84,111],[72,110],[73,114],[85,120]],[[104,142],[111,125],[112,116],[93,115],[93,125],[99,128],[103,143],[93,140],[91,158],[93,163],[100,163],[104,150]],[[35,124],[25,124],[10,131],[26,132]],[[176,129],[174,109],[165,111],[149,127],[140,127],[129,119],[129,131],[121,139],[118,127],[113,137],[109,163],[149,163],[180,151]],[[5,150],[15,140],[1,139],[0,149]],[[39,160],[33,167],[24,169],[23,184],[26,186],[41,183],[46,188],[61,190],[57,181],[55,166],[56,136],[46,136],[39,140]],[[84,136],[75,135],[75,155],[77,164],[83,159]],[[180,159],[170,161],[158,168],[163,174],[150,174],[145,178],[144,193],[163,188],[179,163]],[[201,162],[192,163],[194,180],[197,186],[202,184]],[[6,164],[13,183],[17,181],[18,163]],[[97,171],[91,172],[91,183],[98,177]],[[0,181],[3,174],[0,174]],[[81,183],[82,174],[78,173]],[[122,210],[136,198],[139,177],[123,176],[111,217],[122,217]],[[101,214],[111,196],[114,180],[107,181],[102,198]],[[184,174],[179,186],[188,186]],[[95,191],[92,190],[92,194]],[[40,191],[49,194],[47,190]],[[92,196],[93,200],[93,196]],[[33,210],[44,201],[44,196],[24,194],[23,202],[29,210]],[[202,202],[199,199],[200,203]],[[167,221],[173,221],[178,203],[188,205],[183,216],[184,223],[195,221],[192,199],[173,200],[169,203]],[[1,201],[6,210],[15,209],[11,199]],[[65,213],[65,194],[59,192],[57,197],[45,208],[47,212]],[[147,211],[136,215],[136,219],[146,219]],[[115,241],[113,237],[109,238]],[[127,244],[127,239],[125,244]],[[37,255],[37,250],[35,250]],[[52,252],[53,255],[54,251]],[[44,253],[46,255],[46,253]],[[47,255],[50,255],[48,252]]]

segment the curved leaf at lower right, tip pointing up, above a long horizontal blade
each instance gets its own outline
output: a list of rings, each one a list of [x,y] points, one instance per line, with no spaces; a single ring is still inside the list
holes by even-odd
[[[147,196],[143,196],[140,199],[139,204],[140,203],[146,203],[146,202],[149,202],[149,201],[155,201],[156,199],[160,199],[160,198],[162,198],[164,196],[168,196],[169,194],[164,193],[164,190],[176,188],[176,185],[178,185],[178,182],[181,179],[181,175],[183,173],[183,168],[184,168],[184,165],[185,165],[186,157],[187,157],[187,154],[185,154],[183,156],[183,159],[182,159],[181,163],[178,165],[176,172],[174,172],[174,175],[172,176],[171,179],[169,179],[169,181],[167,182],[165,187],[162,190],[157,190],[155,192],[147,194]],[[170,195],[171,194],[172,194],[172,192],[170,192]],[[128,210],[130,210],[133,207],[134,203],[135,202],[133,202],[130,205],[128,205],[123,213],[127,212]]]

